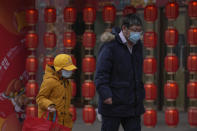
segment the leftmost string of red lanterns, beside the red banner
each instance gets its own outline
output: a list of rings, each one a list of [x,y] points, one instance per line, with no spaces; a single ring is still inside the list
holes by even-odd
[[[38,35],[36,34],[36,24],[38,22],[37,9],[31,8],[26,10],[26,22],[29,26],[29,31],[25,36],[25,45],[29,51],[29,56],[26,58],[26,71],[29,73],[29,80],[25,87],[25,93],[31,99],[31,104],[26,107],[26,117],[37,117],[38,109],[35,104],[35,97],[39,88],[35,81],[38,69],[38,60],[35,55],[38,47]]]

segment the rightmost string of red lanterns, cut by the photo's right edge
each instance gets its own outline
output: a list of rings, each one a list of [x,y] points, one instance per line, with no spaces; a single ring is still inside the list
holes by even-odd
[[[188,16],[192,25],[187,31],[187,43],[190,48],[187,57],[187,70],[189,71],[189,82],[187,84],[187,96],[189,98],[188,122],[191,127],[197,127],[197,1],[188,3]]]

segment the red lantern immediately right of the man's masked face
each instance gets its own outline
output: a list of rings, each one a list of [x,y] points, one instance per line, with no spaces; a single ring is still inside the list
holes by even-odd
[[[146,48],[155,48],[157,45],[157,33],[149,31],[144,33],[144,46]]]

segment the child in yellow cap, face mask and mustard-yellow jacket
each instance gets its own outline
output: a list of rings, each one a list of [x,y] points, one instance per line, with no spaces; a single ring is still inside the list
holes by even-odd
[[[66,54],[57,55],[54,65],[46,66],[43,82],[36,98],[39,117],[47,110],[57,111],[58,123],[72,128],[72,116],[69,112],[72,89],[68,79],[75,69],[71,57]]]

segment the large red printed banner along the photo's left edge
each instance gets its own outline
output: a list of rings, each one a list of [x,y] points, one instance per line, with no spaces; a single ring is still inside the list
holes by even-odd
[[[21,131],[24,117],[25,8],[32,0],[0,1],[0,131]]]

